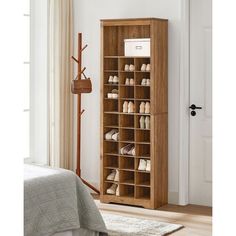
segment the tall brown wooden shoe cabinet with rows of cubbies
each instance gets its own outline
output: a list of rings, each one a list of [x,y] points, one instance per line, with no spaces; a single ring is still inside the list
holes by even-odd
[[[150,38],[150,56],[124,56],[124,39]],[[168,106],[167,106],[168,21],[164,19],[121,19],[101,21],[101,202],[121,203],[156,209],[168,199]],[[135,71],[124,71],[125,65]],[[141,71],[150,64],[150,71]],[[109,83],[117,76],[118,83]],[[133,78],[134,85],[125,85]],[[150,86],[141,85],[143,78]],[[118,98],[108,98],[113,89]],[[134,112],[124,113],[124,102],[133,102]],[[141,102],[150,102],[150,113],[140,114]],[[140,128],[141,116],[150,118],[150,129]],[[106,140],[112,129],[119,140]],[[135,155],[122,155],[122,147],[133,144]],[[140,159],[151,161],[151,170],[138,170]],[[119,170],[119,181],[107,180]],[[112,184],[119,195],[107,194]]]

